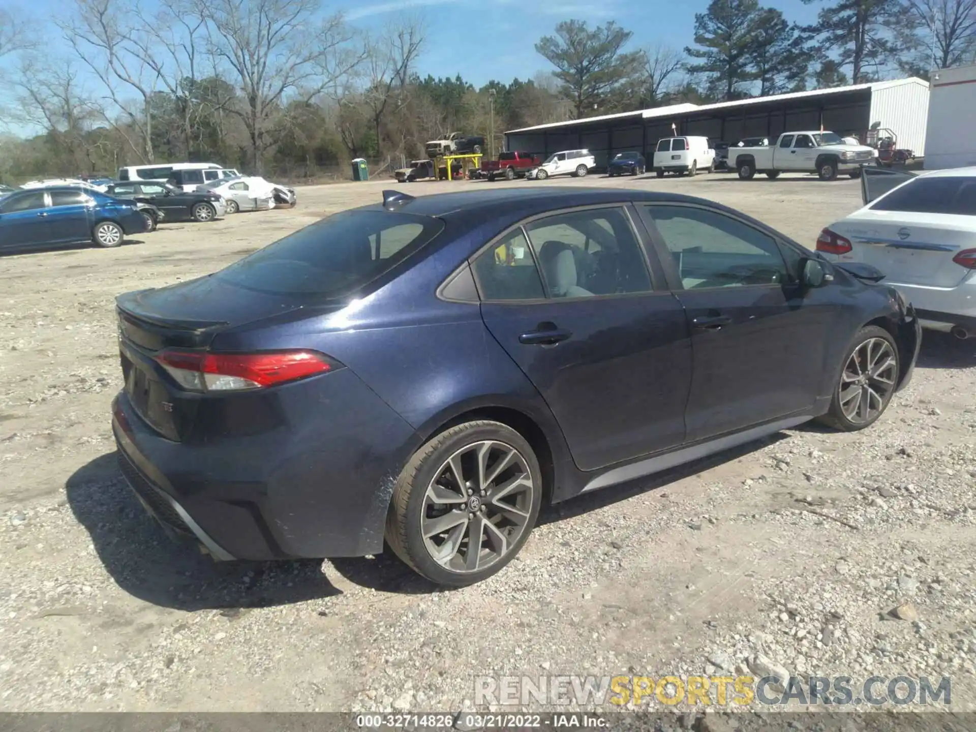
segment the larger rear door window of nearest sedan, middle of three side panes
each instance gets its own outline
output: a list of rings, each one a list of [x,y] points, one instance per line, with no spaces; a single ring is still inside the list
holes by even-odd
[[[526,225],[552,298],[651,291],[640,244],[623,209],[590,209]]]

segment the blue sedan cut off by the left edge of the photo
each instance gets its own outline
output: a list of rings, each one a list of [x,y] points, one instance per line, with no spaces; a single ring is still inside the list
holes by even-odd
[[[117,247],[145,229],[134,201],[95,190],[29,188],[0,196],[0,252],[84,242]]]

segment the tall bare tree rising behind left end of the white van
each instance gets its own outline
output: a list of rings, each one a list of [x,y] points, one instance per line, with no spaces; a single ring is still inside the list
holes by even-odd
[[[64,38],[102,81],[106,102],[122,112],[127,124],[114,121],[111,107],[106,109],[105,121],[115,127],[143,162],[151,163],[155,158],[152,98],[158,91],[159,71],[138,53],[140,44],[134,39],[144,37],[144,30],[128,20],[138,20],[138,8],[126,0],[75,2],[77,17],[59,23]],[[136,102],[127,94],[135,95]]]

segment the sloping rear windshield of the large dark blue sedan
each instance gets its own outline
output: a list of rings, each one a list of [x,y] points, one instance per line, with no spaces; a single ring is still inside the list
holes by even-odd
[[[399,264],[443,230],[439,219],[346,211],[305,226],[215,274],[272,295],[339,298]]]

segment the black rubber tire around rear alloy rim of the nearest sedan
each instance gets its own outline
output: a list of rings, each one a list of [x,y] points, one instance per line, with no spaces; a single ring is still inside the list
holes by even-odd
[[[431,549],[428,549],[427,541],[422,528],[422,522],[427,517],[427,490],[430,484],[438,478],[439,474],[446,474],[449,478],[445,465],[452,456],[459,456],[468,446],[476,445],[479,442],[491,441],[514,448],[524,460],[527,474],[531,479],[531,496],[526,497],[523,508],[527,517],[522,528],[519,530],[515,541],[507,547],[501,556],[495,558],[483,569],[473,569],[467,571],[456,571],[438,562],[431,556]],[[520,469],[513,466],[514,469]],[[505,473],[502,473],[505,474]],[[463,478],[464,476],[462,476]],[[460,480],[455,484],[460,483]],[[470,481],[465,485],[470,488]],[[453,488],[451,489],[454,490]],[[518,553],[525,541],[528,539],[532,528],[535,526],[539,516],[539,507],[542,503],[542,472],[539,469],[539,462],[531,445],[511,427],[499,422],[479,420],[467,422],[457,427],[446,429],[440,434],[431,438],[426,445],[421,447],[410,459],[407,465],[400,472],[393,487],[393,496],[389,511],[386,514],[386,542],[394,553],[411,567],[418,574],[423,575],[428,580],[438,585],[451,587],[465,587],[481,582],[505,567],[506,564]],[[452,509],[448,512],[457,511],[463,515],[468,510],[475,520],[480,520],[478,512],[484,513],[481,508],[472,508],[472,499],[476,498],[477,492],[468,492],[467,501],[460,502],[460,508]],[[457,503],[457,502],[455,502]],[[488,508],[491,504],[485,502]],[[444,514],[434,513],[434,517]],[[427,518],[429,520],[429,518]],[[468,517],[467,521],[471,518]],[[462,526],[462,536],[457,539],[455,554],[448,559],[453,562],[454,558],[460,557],[460,549],[468,538],[469,523],[456,524]],[[501,523],[501,522],[500,522]],[[508,529],[507,529],[508,530]],[[444,533],[450,533],[445,529]],[[444,547],[447,542],[445,539]],[[490,549],[489,549],[490,550]],[[479,552],[480,554],[481,552]],[[467,556],[466,556],[467,558]]]

